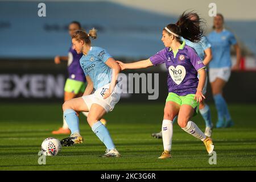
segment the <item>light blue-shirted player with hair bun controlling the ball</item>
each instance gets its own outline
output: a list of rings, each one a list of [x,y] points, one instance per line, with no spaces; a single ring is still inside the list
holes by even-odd
[[[97,38],[96,30],[87,34],[85,31],[76,31],[72,35],[72,43],[77,53],[83,53],[80,64],[84,70],[88,85],[82,97],[73,98],[63,104],[63,115],[71,130],[71,137],[61,140],[63,146],[82,143],[83,138],[79,131],[80,111],[89,111],[87,121],[92,131],[107,148],[104,157],[119,157],[108,129],[100,122],[104,114],[112,111],[120,99],[117,77],[120,67],[112,56],[100,47],[92,47],[90,37]],[[93,88],[96,90],[93,94]]]

